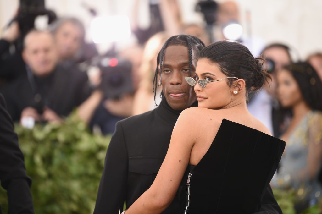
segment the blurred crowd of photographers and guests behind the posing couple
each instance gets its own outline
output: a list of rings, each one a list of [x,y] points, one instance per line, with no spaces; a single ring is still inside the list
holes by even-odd
[[[161,87],[155,97],[152,84],[157,54],[167,38],[194,35],[207,45],[231,39],[223,29],[240,23],[239,7],[233,1],[210,4],[210,12],[199,5],[204,23],[186,24],[177,1],[159,0],[150,1],[150,26],[141,29],[138,2],[130,20],[137,42],[106,54],[85,42],[87,29],[75,17],[57,17],[48,29],[28,32],[13,19],[0,39],[0,93],[12,120],[32,128],[35,123],[63,123],[74,112],[93,132],[111,134],[117,121],[160,103]],[[272,187],[297,191],[298,210],[318,203],[322,199],[322,50],[303,60],[295,58],[291,44],[265,44],[251,35],[235,40],[254,57],[266,59],[264,66],[271,74],[259,93],[249,95],[248,107],[274,136],[287,142]],[[295,63],[299,60],[303,62]]]

